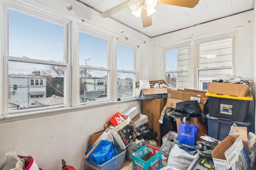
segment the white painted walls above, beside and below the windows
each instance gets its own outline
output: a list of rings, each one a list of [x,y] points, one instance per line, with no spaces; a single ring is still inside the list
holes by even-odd
[[[0,2],[2,1],[0,0]],[[92,29],[106,31],[106,33],[119,38],[128,37],[132,41],[140,42],[142,52],[140,53],[139,69],[141,75],[138,80],[158,80],[162,77],[162,59],[160,58],[162,53],[159,45],[183,43],[188,40],[192,41],[193,44],[196,39],[237,31],[239,48],[236,62],[239,64],[236,71],[246,79],[254,79],[253,11],[197,25],[151,40],[110,18],[100,18],[98,12],[75,0],[21,0],[21,2],[33,4],[60,15],[65,14],[77,22],[81,22],[80,19],[82,18],[86,22],[81,23]],[[67,11],[66,8],[70,5],[73,6],[74,10]],[[248,23],[248,20],[251,22]],[[120,33],[121,31],[124,33]],[[144,41],[146,41],[145,44],[142,43]],[[2,39],[0,42],[2,45]],[[150,49],[150,47],[153,48]],[[2,54],[2,51],[0,52]],[[74,166],[76,170],[84,170],[86,168],[84,152],[89,147],[89,136],[102,130],[104,122],[113,113],[122,112],[127,107],[134,106],[139,107],[140,111],[142,110],[141,101],[117,102],[105,107],[57,115],[10,122],[5,120],[6,122],[0,123],[0,162],[5,160],[4,154],[8,151],[24,150],[26,154],[34,156],[38,166],[44,170],[60,170],[62,159],[65,159],[68,165]]]

